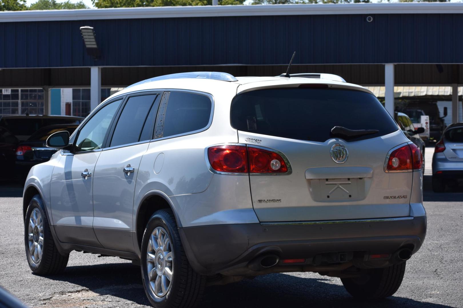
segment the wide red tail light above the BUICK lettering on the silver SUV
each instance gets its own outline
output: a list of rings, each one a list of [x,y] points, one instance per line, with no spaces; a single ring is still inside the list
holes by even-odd
[[[245,145],[216,145],[207,149],[211,167],[227,173],[286,173],[288,165],[273,151]]]

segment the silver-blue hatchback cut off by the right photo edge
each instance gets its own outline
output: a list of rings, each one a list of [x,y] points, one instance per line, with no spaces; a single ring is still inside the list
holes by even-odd
[[[450,124],[432,156],[432,190],[442,193],[446,185],[463,179],[463,123]]]

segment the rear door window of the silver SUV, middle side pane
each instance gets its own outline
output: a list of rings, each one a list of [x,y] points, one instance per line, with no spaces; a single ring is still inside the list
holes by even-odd
[[[128,99],[114,129],[110,146],[138,142],[155,98],[156,94],[134,96]]]

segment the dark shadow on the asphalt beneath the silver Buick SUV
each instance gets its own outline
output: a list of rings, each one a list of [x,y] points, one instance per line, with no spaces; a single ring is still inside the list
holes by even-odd
[[[111,295],[149,306],[138,266],[112,263],[93,266],[69,266],[62,275],[51,279],[67,281],[100,294]],[[337,279],[337,278],[335,278]],[[380,301],[358,301],[350,297],[342,285],[333,284],[323,276],[303,278],[288,274],[270,274],[235,284],[211,286],[201,308],[260,308],[260,307],[450,307],[419,302],[399,296]]]

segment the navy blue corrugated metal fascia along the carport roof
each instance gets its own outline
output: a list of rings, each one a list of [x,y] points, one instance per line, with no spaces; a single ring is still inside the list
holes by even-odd
[[[0,23],[0,67],[463,63],[461,14]],[[100,60],[79,27],[93,26]]]

